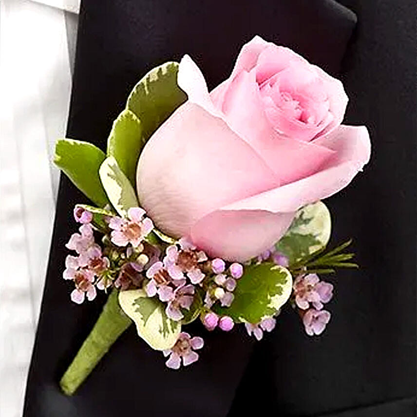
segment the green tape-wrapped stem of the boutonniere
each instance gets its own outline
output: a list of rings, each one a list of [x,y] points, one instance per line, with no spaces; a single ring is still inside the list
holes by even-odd
[[[93,330],[59,382],[66,395],[73,395],[117,338],[132,324],[119,306],[118,291],[109,295]]]

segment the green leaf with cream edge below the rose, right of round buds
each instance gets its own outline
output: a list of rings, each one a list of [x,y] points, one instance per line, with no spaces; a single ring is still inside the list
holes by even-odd
[[[230,307],[216,306],[213,310],[235,322],[258,323],[276,314],[288,301],[291,290],[292,277],[283,266],[270,262],[248,265],[237,281]]]

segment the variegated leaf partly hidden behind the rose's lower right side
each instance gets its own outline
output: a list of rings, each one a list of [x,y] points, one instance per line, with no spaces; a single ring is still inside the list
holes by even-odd
[[[294,265],[325,247],[330,239],[330,231],[330,212],[324,203],[318,201],[297,212],[276,248],[288,257],[289,265]]]

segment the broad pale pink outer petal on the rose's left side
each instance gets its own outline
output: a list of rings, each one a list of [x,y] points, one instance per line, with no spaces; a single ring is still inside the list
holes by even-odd
[[[278,185],[226,123],[190,102],[152,135],[137,171],[141,206],[172,236],[188,235],[211,211]]]

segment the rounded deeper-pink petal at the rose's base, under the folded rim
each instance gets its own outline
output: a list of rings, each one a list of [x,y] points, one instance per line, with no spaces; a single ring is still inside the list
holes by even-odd
[[[191,238],[213,257],[247,261],[277,242],[293,218],[294,213],[217,210],[192,227]]]

